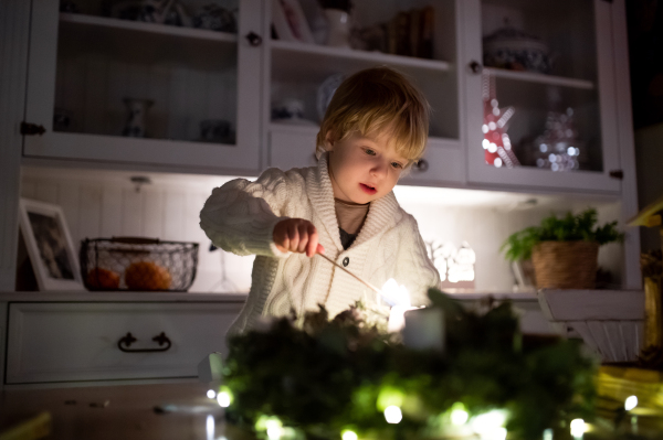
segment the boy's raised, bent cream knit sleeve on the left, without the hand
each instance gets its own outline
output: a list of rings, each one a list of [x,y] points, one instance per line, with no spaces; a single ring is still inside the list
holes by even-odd
[[[255,182],[235,179],[215,187],[200,212],[200,227],[215,246],[236,255],[285,256],[273,239],[290,194],[286,174],[266,170]]]

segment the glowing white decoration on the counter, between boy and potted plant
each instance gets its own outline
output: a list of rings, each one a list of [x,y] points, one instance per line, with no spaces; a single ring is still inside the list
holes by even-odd
[[[474,288],[476,253],[467,242],[457,248],[453,243],[425,242],[429,257],[440,272],[442,287]]]

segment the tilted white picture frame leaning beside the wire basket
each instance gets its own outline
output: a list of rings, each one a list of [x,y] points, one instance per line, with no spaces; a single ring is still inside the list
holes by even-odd
[[[85,290],[78,256],[59,205],[21,198],[19,225],[39,290]]]

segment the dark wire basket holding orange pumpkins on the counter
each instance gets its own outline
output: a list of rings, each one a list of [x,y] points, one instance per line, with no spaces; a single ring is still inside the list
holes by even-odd
[[[86,238],[81,275],[88,290],[187,291],[196,279],[198,243],[154,238]]]

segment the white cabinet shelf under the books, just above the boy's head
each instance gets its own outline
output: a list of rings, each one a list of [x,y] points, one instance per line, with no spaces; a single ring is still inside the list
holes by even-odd
[[[293,56],[296,56],[297,60],[306,57],[306,61],[311,63],[311,65],[307,66],[307,69],[316,65],[338,65],[339,62],[343,64],[352,63],[359,68],[376,64],[387,64],[390,66],[409,69],[414,68],[436,72],[448,72],[451,69],[451,64],[445,61],[423,60],[412,56],[385,54],[380,52],[355,51],[349,49],[328,47],[316,44],[293,43],[277,40],[272,41],[271,46],[273,57],[274,55],[278,54],[277,60],[283,60],[285,63],[290,63],[290,61],[293,60]]]

